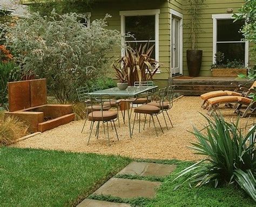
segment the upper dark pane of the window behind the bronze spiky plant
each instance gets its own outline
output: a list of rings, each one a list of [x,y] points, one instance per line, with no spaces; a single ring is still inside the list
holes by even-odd
[[[136,40],[155,40],[155,16],[126,16],[125,33],[134,34]],[[134,40],[126,38],[127,40]]]

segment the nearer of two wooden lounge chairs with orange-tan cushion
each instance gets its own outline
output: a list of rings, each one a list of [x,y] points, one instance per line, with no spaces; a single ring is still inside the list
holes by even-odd
[[[253,101],[251,98],[241,97],[241,96],[220,96],[208,99],[208,104],[211,106],[208,109],[207,115],[212,115],[217,109],[220,104],[231,104],[237,103],[238,106],[235,109],[236,113],[239,113],[242,118],[246,117],[248,112],[255,112],[256,102]],[[246,105],[247,108],[245,111],[241,111],[243,105]]]

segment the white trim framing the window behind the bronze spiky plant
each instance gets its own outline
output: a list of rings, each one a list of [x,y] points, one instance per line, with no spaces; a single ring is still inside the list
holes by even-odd
[[[159,61],[159,13],[160,9],[153,10],[132,10],[132,11],[120,11],[121,16],[121,34],[125,35],[125,16],[143,16],[143,15],[154,15],[155,16],[155,40],[156,41],[156,60]],[[122,45],[124,45],[124,38]],[[121,54],[124,56],[124,47],[122,47]]]

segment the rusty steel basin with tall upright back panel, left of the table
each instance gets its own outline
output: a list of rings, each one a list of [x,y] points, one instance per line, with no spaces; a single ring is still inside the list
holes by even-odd
[[[75,120],[72,105],[47,104],[46,79],[8,83],[9,112],[29,124],[30,132],[44,132]]]

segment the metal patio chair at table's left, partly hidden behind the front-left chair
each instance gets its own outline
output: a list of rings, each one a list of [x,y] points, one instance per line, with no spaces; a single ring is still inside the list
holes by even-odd
[[[78,96],[79,102],[86,104],[88,101],[90,101],[91,97],[89,95],[89,89],[87,87],[77,88],[76,91],[77,91],[77,96]],[[84,131],[84,126],[86,124],[86,120],[88,118],[89,113],[91,113],[92,111],[100,111],[100,110],[107,111],[107,110],[109,110],[109,107],[104,106],[104,108],[102,108],[102,106],[100,106],[100,105],[93,105],[91,108],[86,107],[85,110],[86,110],[86,111],[84,111],[85,121],[84,121],[83,129],[82,129],[81,133],[83,133],[83,131]]]

